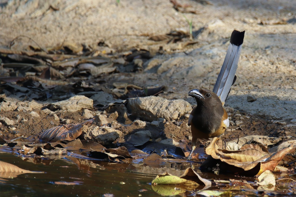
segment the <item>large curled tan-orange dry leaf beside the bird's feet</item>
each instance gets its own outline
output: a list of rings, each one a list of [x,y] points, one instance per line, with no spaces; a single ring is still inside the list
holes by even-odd
[[[287,148],[281,149],[278,152],[268,153],[259,146],[250,146],[249,148],[238,151],[229,151],[221,149],[215,137],[209,146],[206,148],[206,153],[216,159],[216,164],[220,164],[221,171],[231,171],[233,173],[242,173],[248,171],[249,176],[260,175],[266,170],[273,171],[278,163],[283,159],[285,154],[295,151],[296,146],[290,145]],[[257,149],[255,149],[257,148]],[[205,165],[208,162],[204,162]],[[213,163],[213,162],[211,162]],[[201,167],[208,167],[204,164]]]

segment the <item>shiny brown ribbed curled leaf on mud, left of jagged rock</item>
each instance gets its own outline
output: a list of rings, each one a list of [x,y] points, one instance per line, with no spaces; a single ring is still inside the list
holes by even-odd
[[[83,125],[92,123],[94,119],[90,119],[80,124],[59,125],[50,128],[40,134],[39,139],[43,142],[56,142],[58,140],[74,140],[82,133]]]

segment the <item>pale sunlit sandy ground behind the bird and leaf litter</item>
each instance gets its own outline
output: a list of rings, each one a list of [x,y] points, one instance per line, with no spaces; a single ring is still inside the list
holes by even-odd
[[[250,117],[244,118],[241,126],[245,135],[251,131],[265,135],[277,131],[283,136],[295,136],[295,2],[177,2],[187,6],[185,11],[194,13],[178,12],[170,1],[162,0],[121,0],[119,4],[115,0],[3,1],[0,9],[0,45],[7,47],[15,37],[26,35],[42,47],[53,47],[67,41],[88,45],[96,49],[98,55],[110,52],[116,54],[133,48],[147,50],[155,56],[144,63],[144,71],[115,73],[104,76],[105,79],[110,83],[130,82],[141,87],[165,85],[168,93],[160,96],[170,100],[181,98],[194,104],[194,100],[187,96],[189,90],[213,88],[231,32],[234,29],[245,30],[237,81],[226,101],[226,106],[235,109],[229,114],[234,115],[239,110]],[[194,38],[195,44],[183,46],[180,43],[149,40],[151,36],[173,31],[188,32],[189,25],[185,17],[192,19],[193,31],[204,28]],[[18,50],[25,47],[12,45],[12,49]],[[160,48],[162,54],[156,53]],[[194,66],[198,66],[198,69],[192,69]],[[257,100],[247,102],[249,95]],[[15,117],[17,112],[2,115]],[[77,114],[69,117],[74,123],[78,122]],[[258,120],[261,125],[257,124]],[[23,128],[22,123],[19,125]],[[33,130],[40,132],[42,128],[50,126],[33,126]],[[26,131],[31,132],[31,127],[30,124],[25,126]],[[241,132],[237,127],[234,125],[230,129]],[[178,132],[175,130],[176,127],[172,127],[167,132],[178,133],[181,130],[181,135],[188,136],[189,128],[185,124]],[[236,133],[233,134],[236,136]],[[7,137],[13,138],[12,135]]]

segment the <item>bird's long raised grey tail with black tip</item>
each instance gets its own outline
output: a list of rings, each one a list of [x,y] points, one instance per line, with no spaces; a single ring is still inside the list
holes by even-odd
[[[237,63],[239,62],[243,41],[244,31],[239,32],[234,30],[230,37],[230,44],[225,60],[213,88],[213,92],[220,98],[223,105],[235,81],[235,72],[237,71]]]

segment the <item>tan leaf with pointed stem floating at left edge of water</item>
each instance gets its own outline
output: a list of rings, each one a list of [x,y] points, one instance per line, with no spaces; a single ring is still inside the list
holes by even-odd
[[[1,178],[15,178],[18,175],[25,173],[44,173],[44,172],[34,172],[30,170],[24,170],[16,165],[0,161],[0,177]]]

